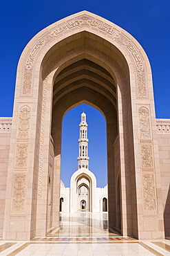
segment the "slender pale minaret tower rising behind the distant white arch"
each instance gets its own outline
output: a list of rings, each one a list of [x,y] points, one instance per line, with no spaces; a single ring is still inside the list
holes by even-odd
[[[81,123],[79,125],[80,127],[80,138],[78,139],[78,145],[79,145],[79,156],[77,158],[78,160],[78,169],[86,168],[89,169],[89,157],[88,157],[88,142],[87,139],[87,122],[86,122],[86,114],[81,114]]]

